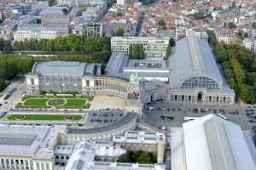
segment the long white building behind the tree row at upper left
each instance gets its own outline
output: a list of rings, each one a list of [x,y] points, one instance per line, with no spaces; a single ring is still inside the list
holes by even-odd
[[[33,31],[33,30],[18,30],[14,33],[14,41],[22,42],[24,40],[53,40],[61,34],[58,31]]]

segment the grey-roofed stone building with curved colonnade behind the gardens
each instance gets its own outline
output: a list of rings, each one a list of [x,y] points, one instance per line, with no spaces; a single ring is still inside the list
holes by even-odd
[[[26,75],[26,92],[39,94],[40,91],[139,98],[137,83],[119,77],[101,76],[100,65],[79,62],[50,61],[33,65],[32,72]]]

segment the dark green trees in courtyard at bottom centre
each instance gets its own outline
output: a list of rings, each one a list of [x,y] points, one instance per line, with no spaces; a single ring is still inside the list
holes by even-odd
[[[144,151],[128,151],[126,154],[119,156],[119,162],[138,162],[138,163],[156,163],[157,154],[156,152],[144,152]]]

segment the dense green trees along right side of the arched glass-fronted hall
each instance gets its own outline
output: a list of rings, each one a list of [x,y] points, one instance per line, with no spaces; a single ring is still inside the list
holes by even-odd
[[[211,32],[209,42],[230,88],[244,102],[256,103],[256,55],[236,44],[217,43],[214,38]]]

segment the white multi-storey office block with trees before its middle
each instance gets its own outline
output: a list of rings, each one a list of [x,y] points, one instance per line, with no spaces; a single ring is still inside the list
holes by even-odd
[[[111,51],[129,54],[131,44],[143,44],[146,57],[165,58],[168,43],[166,37],[111,37]]]

